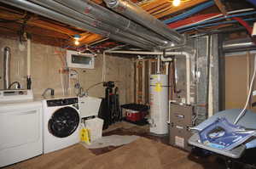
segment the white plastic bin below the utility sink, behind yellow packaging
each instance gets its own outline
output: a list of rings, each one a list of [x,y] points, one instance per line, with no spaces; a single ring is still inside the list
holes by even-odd
[[[103,122],[104,121],[98,117],[85,121],[85,127],[88,128],[90,132],[90,142],[102,138]]]

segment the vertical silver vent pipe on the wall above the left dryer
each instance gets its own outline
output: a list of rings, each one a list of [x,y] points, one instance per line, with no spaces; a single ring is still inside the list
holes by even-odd
[[[10,48],[3,49],[3,89],[8,89],[10,83]]]

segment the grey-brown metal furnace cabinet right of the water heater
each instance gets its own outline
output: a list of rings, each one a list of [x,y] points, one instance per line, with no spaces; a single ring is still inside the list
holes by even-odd
[[[169,144],[181,149],[190,150],[188,144],[192,132],[189,127],[193,126],[194,107],[191,105],[169,104],[170,127]]]

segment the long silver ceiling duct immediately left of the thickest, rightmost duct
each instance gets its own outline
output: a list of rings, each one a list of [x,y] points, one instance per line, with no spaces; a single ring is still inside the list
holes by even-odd
[[[108,8],[104,8],[96,3],[92,3],[89,0],[55,0],[55,2],[64,4],[81,14],[89,15],[96,20],[100,20],[108,25],[119,28],[119,30],[130,32],[137,37],[143,37],[149,42],[156,43],[157,46],[170,46],[170,42],[168,42],[166,38],[160,37],[158,34],[154,33],[154,31],[149,31],[143,26],[108,10]]]

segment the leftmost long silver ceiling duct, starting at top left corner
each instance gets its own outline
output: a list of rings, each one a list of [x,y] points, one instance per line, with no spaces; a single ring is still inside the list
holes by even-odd
[[[100,30],[100,29],[98,29],[94,26],[84,24],[83,22],[81,22],[79,20],[74,20],[74,19],[72,19],[72,18],[70,18],[70,17],[68,17],[64,14],[57,13],[53,10],[50,10],[49,8],[41,7],[38,4],[31,3],[31,2],[28,2],[26,0],[19,0],[19,1],[16,1],[16,0],[0,0],[0,2],[15,6],[17,8],[22,8],[26,11],[32,12],[34,14],[42,15],[42,16],[44,16],[46,18],[49,18],[49,19],[52,19],[52,20],[58,20],[58,21],[60,21],[62,23],[65,23],[67,25],[73,25],[73,26],[79,27],[80,29],[85,29],[87,31],[99,34],[102,37],[109,37],[109,38],[111,38],[113,40],[116,40],[116,41],[119,41],[119,42],[125,42],[125,43],[131,44],[131,45],[139,47],[139,48],[148,49],[148,45],[146,45],[146,44],[136,42],[131,38],[120,37],[120,36],[117,36],[117,35],[114,35],[114,34],[110,34],[108,31],[103,31],[103,30]]]

